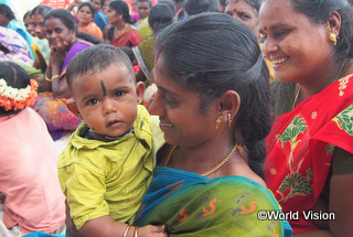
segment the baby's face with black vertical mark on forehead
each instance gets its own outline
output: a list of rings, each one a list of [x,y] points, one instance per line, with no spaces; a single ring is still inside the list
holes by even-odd
[[[122,136],[132,127],[142,96],[124,64],[75,77],[72,93],[88,127],[109,137]]]

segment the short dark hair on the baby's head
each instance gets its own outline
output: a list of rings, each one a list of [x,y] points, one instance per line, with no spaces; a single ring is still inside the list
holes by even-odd
[[[97,44],[79,52],[68,64],[66,82],[71,88],[73,79],[77,75],[97,73],[108,68],[111,64],[125,65],[135,79],[135,73],[130,58],[118,47],[109,44]]]

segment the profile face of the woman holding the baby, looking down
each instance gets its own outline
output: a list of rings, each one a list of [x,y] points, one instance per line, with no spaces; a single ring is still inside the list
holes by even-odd
[[[212,104],[207,111],[200,112],[200,95],[178,85],[168,75],[162,56],[154,65],[153,73],[158,91],[149,111],[159,116],[165,141],[181,147],[194,147],[215,138],[215,106]]]

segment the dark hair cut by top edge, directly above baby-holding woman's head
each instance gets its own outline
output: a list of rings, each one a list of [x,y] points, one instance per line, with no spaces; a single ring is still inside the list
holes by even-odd
[[[218,0],[186,0],[184,9],[189,15],[201,12],[220,12],[220,2]]]

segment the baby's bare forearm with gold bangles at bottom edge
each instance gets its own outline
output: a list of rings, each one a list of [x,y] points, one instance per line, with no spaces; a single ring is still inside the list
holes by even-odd
[[[95,219],[86,222],[79,231],[84,234],[85,237],[167,237],[167,233],[163,231],[161,226],[145,226],[138,228],[131,226],[128,233],[125,234],[128,228],[127,224],[115,222],[111,216],[101,216]]]

